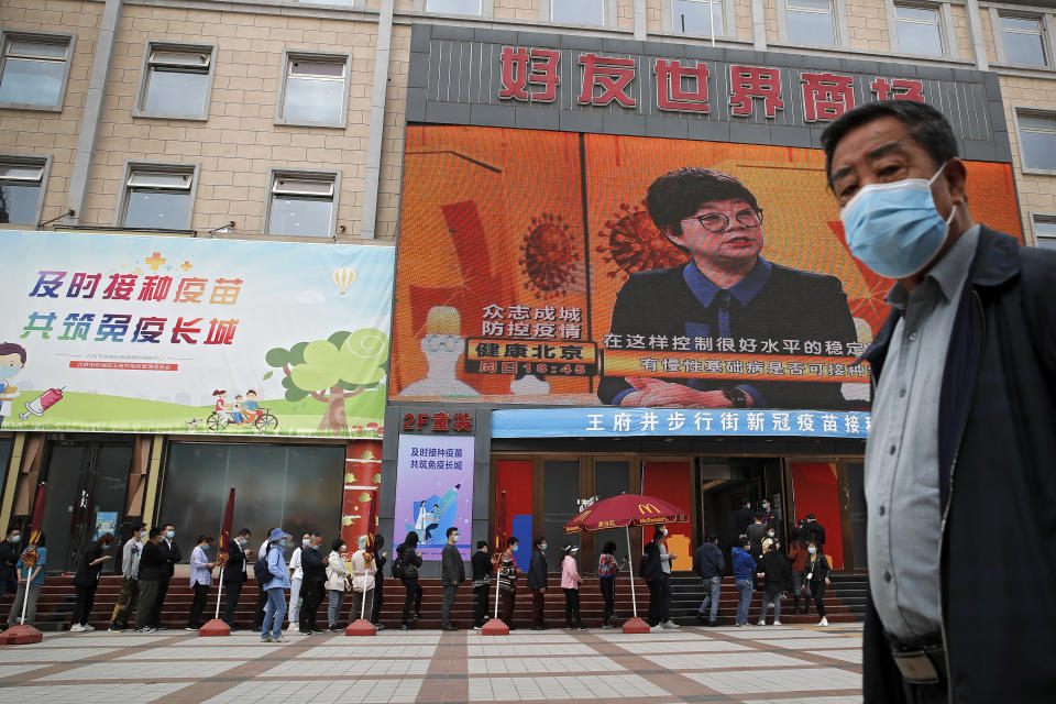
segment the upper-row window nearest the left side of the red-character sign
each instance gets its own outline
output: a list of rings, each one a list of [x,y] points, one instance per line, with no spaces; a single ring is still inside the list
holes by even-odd
[[[343,128],[351,62],[346,55],[287,55],[276,122]]]

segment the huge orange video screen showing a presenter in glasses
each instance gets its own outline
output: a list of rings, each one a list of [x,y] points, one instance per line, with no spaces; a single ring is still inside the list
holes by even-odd
[[[892,282],[820,150],[409,125],[391,397],[864,411]],[[1008,164],[979,222],[1022,240]]]

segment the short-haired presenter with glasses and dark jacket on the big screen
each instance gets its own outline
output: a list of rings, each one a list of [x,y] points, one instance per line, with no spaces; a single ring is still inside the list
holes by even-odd
[[[840,353],[857,344],[847,295],[835,276],[768,262],[762,209],[736,177],[707,168],[660,176],[646,196],[649,217],[691,261],[631,274],[616,296],[607,350],[642,354]],[[604,404],[705,408],[846,408],[829,382],[726,377],[605,376]]]

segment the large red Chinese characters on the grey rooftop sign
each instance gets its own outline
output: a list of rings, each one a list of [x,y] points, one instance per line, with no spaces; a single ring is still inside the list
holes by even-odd
[[[501,100],[553,102],[561,85],[561,52],[557,50],[506,46],[502,52]],[[576,102],[581,106],[605,107],[613,103],[625,109],[638,107],[635,97],[639,80],[636,58],[603,56],[594,52],[579,54],[580,86]],[[672,112],[711,112],[708,76],[711,69],[703,61],[657,58],[651,66],[654,79],[652,101],[658,109]],[[756,100],[767,118],[773,119],[784,110],[784,84],[781,72],[789,68],[766,66],[729,66],[730,113],[750,117]],[[807,122],[827,122],[839,118],[855,107],[855,77],[847,74],[800,74],[800,98]],[[902,99],[924,102],[924,81],[913,78],[875,76],[868,89],[877,100]]]

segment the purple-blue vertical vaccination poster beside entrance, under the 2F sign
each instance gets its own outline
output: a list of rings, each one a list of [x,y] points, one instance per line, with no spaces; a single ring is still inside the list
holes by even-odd
[[[459,552],[470,559],[473,518],[472,437],[399,436],[394,532],[418,534],[425,560],[439,560],[448,528],[459,529]]]

